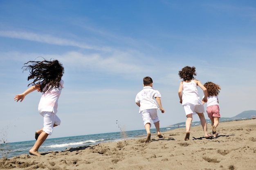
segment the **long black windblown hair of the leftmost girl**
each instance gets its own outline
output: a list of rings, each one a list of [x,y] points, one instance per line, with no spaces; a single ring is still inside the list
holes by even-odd
[[[47,61],[29,61],[22,67],[23,71],[29,71],[27,80],[33,79],[29,85],[40,84],[40,91],[45,92],[53,88],[59,88],[61,77],[64,73],[64,67],[58,60]]]

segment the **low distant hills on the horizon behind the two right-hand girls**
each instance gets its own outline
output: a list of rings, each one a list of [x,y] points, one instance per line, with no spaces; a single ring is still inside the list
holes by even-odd
[[[206,117],[206,116],[205,116]],[[247,110],[239,113],[234,117],[220,117],[220,122],[224,121],[234,121],[234,120],[242,120],[242,119],[255,119],[256,118],[256,110]],[[210,119],[206,119],[207,124],[211,124]],[[167,127],[176,127],[176,126],[185,126],[185,121],[177,124],[173,124]],[[192,122],[191,126],[198,126],[200,125],[200,121]]]

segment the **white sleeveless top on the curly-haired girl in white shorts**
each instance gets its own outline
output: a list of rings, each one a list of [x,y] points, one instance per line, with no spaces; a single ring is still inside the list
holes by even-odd
[[[188,83],[183,81],[182,84],[183,84],[182,106],[187,103],[194,104],[194,105],[201,105],[202,102],[200,100],[198,88],[194,80]]]

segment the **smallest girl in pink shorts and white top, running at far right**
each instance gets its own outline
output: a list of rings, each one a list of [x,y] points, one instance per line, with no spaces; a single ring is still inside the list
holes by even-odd
[[[217,137],[216,128],[219,125],[220,119],[220,109],[218,94],[220,93],[220,86],[214,84],[213,82],[206,82],[204,87],[207,89],[207,114],[211,120],[211,128],[213,132],[213,137]],[[204,104],[204,101],[202,102]]]

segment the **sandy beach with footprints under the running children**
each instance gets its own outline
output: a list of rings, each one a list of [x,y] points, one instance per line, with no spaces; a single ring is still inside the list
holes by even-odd
[[[211,132],[210,124],[207,124]],[[0,169],[13,170],[255,170],[256,119],[220,122],[218,137],[204,138],[202,126],[94,146],[0,159]]]

